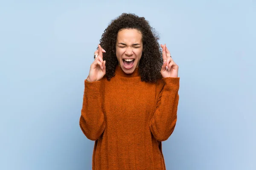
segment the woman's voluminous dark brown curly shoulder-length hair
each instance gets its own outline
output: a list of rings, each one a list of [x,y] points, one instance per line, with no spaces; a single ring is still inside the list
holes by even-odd
[[[160,70],[163,65],[163,57],[157,42],[158,34],[144,17],[123,13],[111,21],[100,39],[100,45],[107,51],[103,54],[103,60],[106,60],[105,77],[108,81],[115,76],[115,69],[118,65],[116,40],[118,32],[122,29],[137,29],[142,33],[143,53],[139,62],[141,81],[156,82],[157,79],[161,79]]]

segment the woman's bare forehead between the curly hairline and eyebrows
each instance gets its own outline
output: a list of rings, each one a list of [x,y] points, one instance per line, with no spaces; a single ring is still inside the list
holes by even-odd
[[[137,29],[122,29],[117,34],[117,42],[140,43],[141,41],[142,41],[142,34]]]

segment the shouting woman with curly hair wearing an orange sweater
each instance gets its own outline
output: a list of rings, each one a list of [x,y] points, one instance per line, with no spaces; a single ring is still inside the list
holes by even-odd
[[[93,170],[165,170],[178,66],[144,17],[122,14],[102,34],[84,81],[80,127],[95,140]]]

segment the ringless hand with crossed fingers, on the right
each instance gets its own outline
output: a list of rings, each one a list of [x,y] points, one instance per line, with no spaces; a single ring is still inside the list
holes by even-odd
[[[178,77],[179,66],[173,61],[166,44],[161,45],[161,47],[163,48],[163,66],[161,68],[163,78]]]

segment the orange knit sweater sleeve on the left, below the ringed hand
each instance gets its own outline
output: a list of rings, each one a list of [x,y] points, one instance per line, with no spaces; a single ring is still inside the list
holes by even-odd
[[[79,125],[90,140],[97,140],[105,129],[105,117],[102,111],[102,82],[84,80],[84,98]]]

